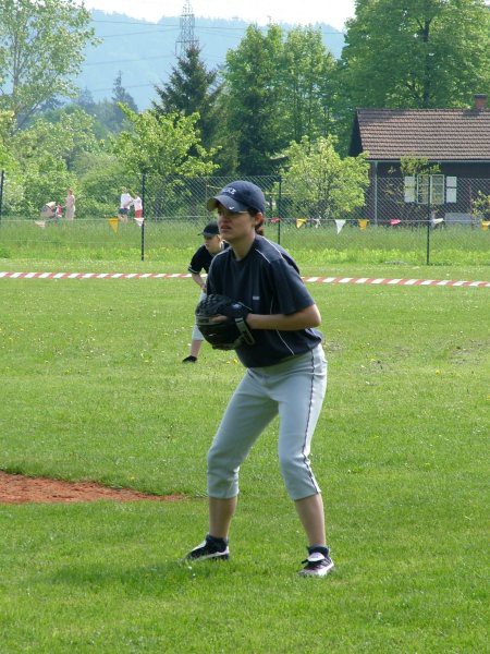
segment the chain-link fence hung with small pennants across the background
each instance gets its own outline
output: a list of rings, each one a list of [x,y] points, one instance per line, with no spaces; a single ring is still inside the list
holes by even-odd
[[[314,196],[295,192],[279,175],[244,178],[259,185],[267,202],[267,237],[290,250],[318,253],[326,264],[490,264],[490,179],[381,178],[364,193],[362,206],[342,208],[334,189]],[[97,198],[101,215],[76,218],[15,216],[0,205],[0,258],[73,257],[87,261],[134,258],[164,262],[170,249],[195,250],[212,219],[206,201],[234,178],[184,179],[143,175],[139,191],[145,220],[118,219],[119,196]],[[122,180],[122,184],[124,180]],[[8,177],[3,181],[3,198]],[[132,189],[130,187],[130,192]],[[7,194],[8,195],[8,194]]]

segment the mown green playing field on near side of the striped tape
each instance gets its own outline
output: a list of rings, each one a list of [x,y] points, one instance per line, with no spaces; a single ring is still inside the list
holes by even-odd
[[[275,425],[243,467],[229,565],[176,562],[206,531],[205,456],[242,375],[208,347],[182,366],[194,287],[0,280],[0,469],[187,496],[1,506],[2,651],[486,651],[488,291],[309,287],[336,571],[301,580]]]

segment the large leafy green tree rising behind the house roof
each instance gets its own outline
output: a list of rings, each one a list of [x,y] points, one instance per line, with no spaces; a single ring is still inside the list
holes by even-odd
[[[357,0],[345,40],[356,107],[464,107],[490,84],[485,0]]]

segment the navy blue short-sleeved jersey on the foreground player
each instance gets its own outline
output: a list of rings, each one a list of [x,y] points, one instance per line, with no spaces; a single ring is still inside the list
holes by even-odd
[[[246,304],[252,313],[266,315],[289,315],[315,303],[292,256],[259,235],[243,259],[237,261],[231,247],[215,256],[207,292],[228,295]],[[236,349],[246,367],[273,365],[289,356],[304,354],[322,340],[316,329],[254,329],[252,334],[255,344]]]

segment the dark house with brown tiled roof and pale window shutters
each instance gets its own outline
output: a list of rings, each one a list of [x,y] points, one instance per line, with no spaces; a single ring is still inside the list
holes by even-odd
[[[473,223],[475,201],[490,195],[490,108],[358,109],[350,155],[366,153],[370,186],[365,218],[375,223],[424,220]],[[404,158],[426,159],[429,171],[402,172]],[[396,223],[399,223],[396,222]]]

